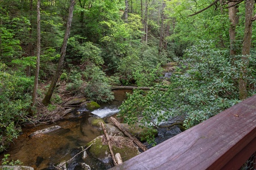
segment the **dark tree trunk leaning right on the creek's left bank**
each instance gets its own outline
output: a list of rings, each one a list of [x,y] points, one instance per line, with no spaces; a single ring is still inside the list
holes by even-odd
[[[56,83],[57,83],[58,78],[60,77],[60,73],[62,71],[64,58],[65,58],[65,55],[66,55],[66,46],[68,44],[68,39],[69,39],[69,35],[70,35],[70,28],[71,28],[71,23],[72,23],[72,19],[73,19],[74,5],[75,5],[75,0],[70,0],[69,16],[68,16],[68,22],[66,23],[66,32],[65,32],[63,44],[62,44],[62,47],[61,47],[61,56],[60,56],[60,59],[58,60],[58,66],[57,66],[57,69],[56,69],[56,71],[53,75],[50,87],[47,91],[47,94],[45,95],[45,97],[43,99],[43,104],[44,105],[48,105],[50,103],[50,100],[51,100],[51,97],[52,97],[52,94],[53,94],[53,90],[56,86]]]

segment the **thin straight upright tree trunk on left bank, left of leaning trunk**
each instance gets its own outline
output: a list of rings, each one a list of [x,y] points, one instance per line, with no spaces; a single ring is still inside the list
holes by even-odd
[[[31,105],[32,107],[36,104],[36,94],[37,94],[39,68],[40,68],[40,48],[41,48],[40,0],[37,0],[36,11],[37,11],[37,43],[36,43],[37,52],[36,52],[36,72],[35,72],[32,105]]]

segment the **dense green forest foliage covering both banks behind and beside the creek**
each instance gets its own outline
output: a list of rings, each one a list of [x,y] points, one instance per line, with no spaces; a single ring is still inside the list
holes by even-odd
[[[0,1],[0,152],[17,137],[16,128],[28,120],[28,114],[43,114],[40,105],[31,108],[36,3]],[[128,94],[120,116],[129,124],[140,122],[153,128],[183,115],[184,126],[190,128],[238,103],[241,79],[247,82],[248,96],[255,94],[255,24],[251,53],[246,56],[250,62],[245,62],[241,53],[244,3],[238,6],[236,40],[231,45],[227,5],[217,2],[188,17],[210,3],[133,0],[128,1],[126,15],[125,1],[78,0],[64,67],[51,104],[45,108],[47,113],[57,108],[61,96],[108,102],[114,99],[111,86],[148,86],[152,90]],[[60,58],[69,5],[66,0],[41,0],[37,103],[43,99]],[[235,56],[230,56],[231,49],[236,49]],[[170,84],[157,82],[167,62],[177,63]]]

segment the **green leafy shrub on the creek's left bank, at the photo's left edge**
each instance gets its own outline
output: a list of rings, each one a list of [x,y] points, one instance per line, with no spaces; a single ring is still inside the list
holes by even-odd
[[[24,94],[32,86],[30,79],[7,72],[0,63],[0,152],[5,150],[12,139],[18,137],[16,124],[24,120],[30,108],[31,96]]]

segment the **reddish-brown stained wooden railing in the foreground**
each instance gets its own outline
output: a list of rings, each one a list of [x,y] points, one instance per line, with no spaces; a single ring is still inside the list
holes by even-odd
[[[255,151],[256,95],[111,169],[239,169]]]

